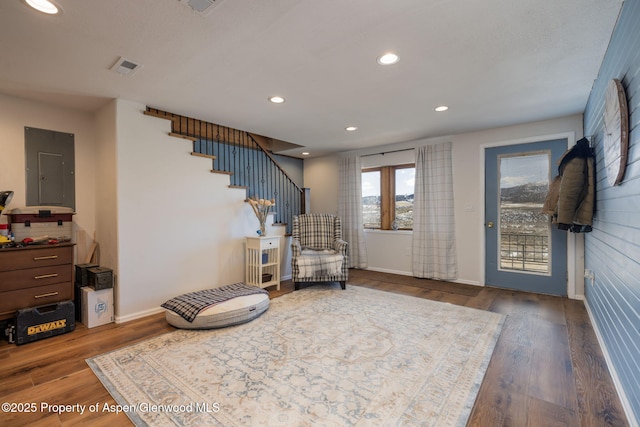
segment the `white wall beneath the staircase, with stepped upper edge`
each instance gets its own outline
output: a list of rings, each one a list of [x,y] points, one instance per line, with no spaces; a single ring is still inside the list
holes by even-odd
[[[228,188],[228,175],[212,174],[211,160],[191,156],[191,142],[168,136],[170,122],[144,109],[116,101],[117,321],[244,280],[244,238],[258,228],[245,191]]]

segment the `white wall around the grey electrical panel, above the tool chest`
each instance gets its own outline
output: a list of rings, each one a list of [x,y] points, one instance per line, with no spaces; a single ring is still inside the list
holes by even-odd
[[[74,134],[76,215],[74,230],[89,237],[95,230],[96,124],[93,114],[0,94],[0,190],[13,190],[7,209],[26,201],[24,128],[34,127]],[[0,222],[6,223],[3,215]],[[84,258],[84,244],[76,253]]]

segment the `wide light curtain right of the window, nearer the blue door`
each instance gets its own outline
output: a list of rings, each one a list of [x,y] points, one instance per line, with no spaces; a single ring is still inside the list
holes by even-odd
[[[413,206],[413,275],[458,277],[451,142],[416,148]]]

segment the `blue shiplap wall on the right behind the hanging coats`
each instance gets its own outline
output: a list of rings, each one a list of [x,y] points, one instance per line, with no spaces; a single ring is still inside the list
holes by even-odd
[[[640,0],[625,0],[584,114],[584,134],[596,150],[596,216],[585,238],[585,267],[594,278],[585,298],[604,342],[627,412],[640,419]],[[587,29],[588,31],[588,29]],[[611,79],[625,88],[629,157],[621,185],[604,168],[604,93]]]

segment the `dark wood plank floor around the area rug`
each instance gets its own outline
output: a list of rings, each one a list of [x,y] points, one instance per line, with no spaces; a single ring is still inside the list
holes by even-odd
[[[362,270],[352,270],[348,283],[507,316],[468,425],[628,425],[582,302]],[[270,293],[292,290],[285,282]],[[123,414],[55,414],[41,405],[115,404],[84,360],[172,330],[158,314],[93,329],[79,324],[22,346],[0,343],[0,401],[14,409],[36,404],[33,412],[0,412],[0,425],[130,425]]]

